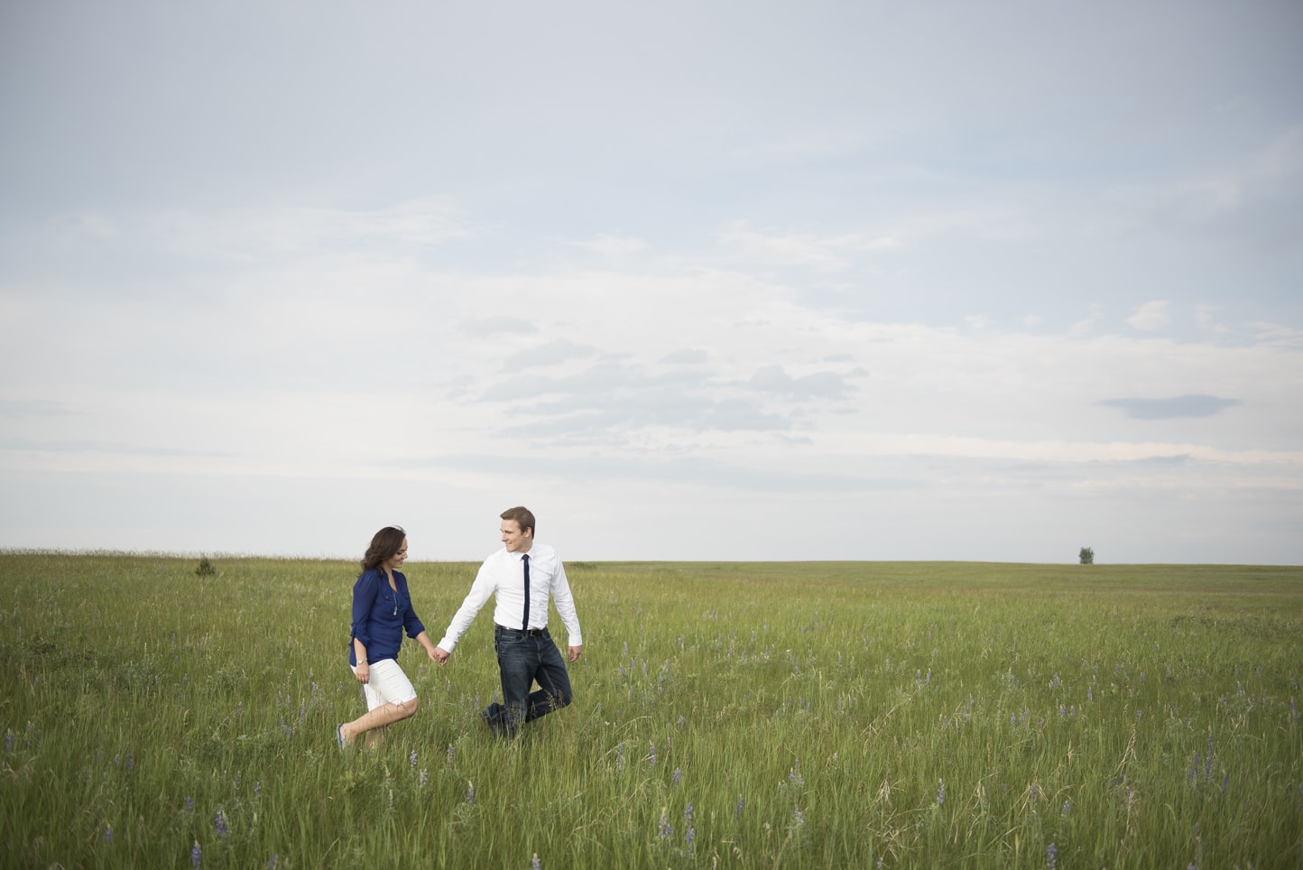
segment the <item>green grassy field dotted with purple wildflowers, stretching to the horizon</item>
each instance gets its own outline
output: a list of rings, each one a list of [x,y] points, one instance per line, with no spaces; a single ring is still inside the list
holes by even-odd
[[[0,554],[3,866],[1303,866],[1303,568],[569,563],[575,705],[490,606],[341,755],[356,564],[197,564]]]

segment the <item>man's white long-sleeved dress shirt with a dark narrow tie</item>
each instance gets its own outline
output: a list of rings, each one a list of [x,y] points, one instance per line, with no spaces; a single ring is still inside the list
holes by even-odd
[[[439,641],[439,649],[452,652],[457,639],[470,628],[480,608],[490,595],[496,595],[493,620],[504,628],[520,629],[525,616],[525,569],[521,556],[529,556],[529,628],[547,628],[547,596],[556,602],[556,612],[569,633],[569,646],[584,646],[575,613],[575,596],[562,557],[547,544],[534,543],[528,554],[508,552],[506,547],[493,554],[480,565],[476,582],[461,607],[452,615],[448,630]]]

